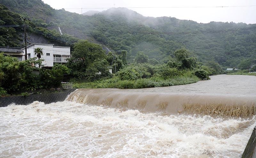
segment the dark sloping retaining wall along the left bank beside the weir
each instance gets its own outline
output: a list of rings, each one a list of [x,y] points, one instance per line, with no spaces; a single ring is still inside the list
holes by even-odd
[[[9,96],[0,98],[0,107],[6,107],[11,103],[18,105],[28,105],[34,101],[44,102],[49,104],[52,102],[63,102],[67,96],[74,92],[76,89],[66,89],[64,92],[47,93],[47,94],[31,94],[27,97],[24,96]]]

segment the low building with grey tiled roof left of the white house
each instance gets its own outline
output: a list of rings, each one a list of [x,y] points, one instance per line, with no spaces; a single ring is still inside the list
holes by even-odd
[[[10,55],[12,57],[17,57],[19,61],[22,61],[23,51],[20,48],[14,47],[0,47],[0,53],[3,52],[4,55]]]

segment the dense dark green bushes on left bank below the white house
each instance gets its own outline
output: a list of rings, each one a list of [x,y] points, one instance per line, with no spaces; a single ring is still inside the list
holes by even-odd
[[[0,95],[38,88],[60,87],[63,77],[69,73],[65,65],[55,65],[52,70],[38,69],[42,60],[17,58],[0,54]]]

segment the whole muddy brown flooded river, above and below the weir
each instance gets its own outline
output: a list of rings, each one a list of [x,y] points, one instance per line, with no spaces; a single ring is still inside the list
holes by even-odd
[[[0,158],[241,157],[256,117],[230,115],[233,104],[255,105],[255,89],[255,76],[217,75],[190,85],[79,89],[65,102],[9,105],[0,108]],[[227,115],[182,111],[196,102],[233,109]]]

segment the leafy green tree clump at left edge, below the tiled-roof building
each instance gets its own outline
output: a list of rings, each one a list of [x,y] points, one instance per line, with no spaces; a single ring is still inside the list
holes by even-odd
[[[41,62],[42,59],[36,60],[36,58],[18,61],[15,57],[0,54],[0,87],[3,87],[8,94],[40,87],[39,75],[33,73],[38,68],[32,64]]]

